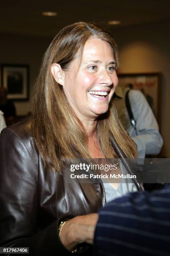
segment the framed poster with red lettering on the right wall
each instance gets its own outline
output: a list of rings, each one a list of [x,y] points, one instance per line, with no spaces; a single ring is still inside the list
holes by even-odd
[[[140,90],[145,95],[160,125],[161,73],[118,74],[119,86]]]

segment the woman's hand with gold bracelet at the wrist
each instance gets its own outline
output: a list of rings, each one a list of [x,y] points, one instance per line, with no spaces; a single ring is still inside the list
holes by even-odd
[[[98,220],[97,213],[77,216],[63,225],[60,240],[71,251],[77,244],[93,242],[95,226]]]

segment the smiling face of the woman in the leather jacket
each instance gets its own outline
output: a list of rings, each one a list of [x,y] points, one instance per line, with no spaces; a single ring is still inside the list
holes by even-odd
[[[85,43],[81,63],[78,57],[64,72],[63,90],[80,120],[94,120],[108,110],[117,83],[110,44],[90,38]]]

